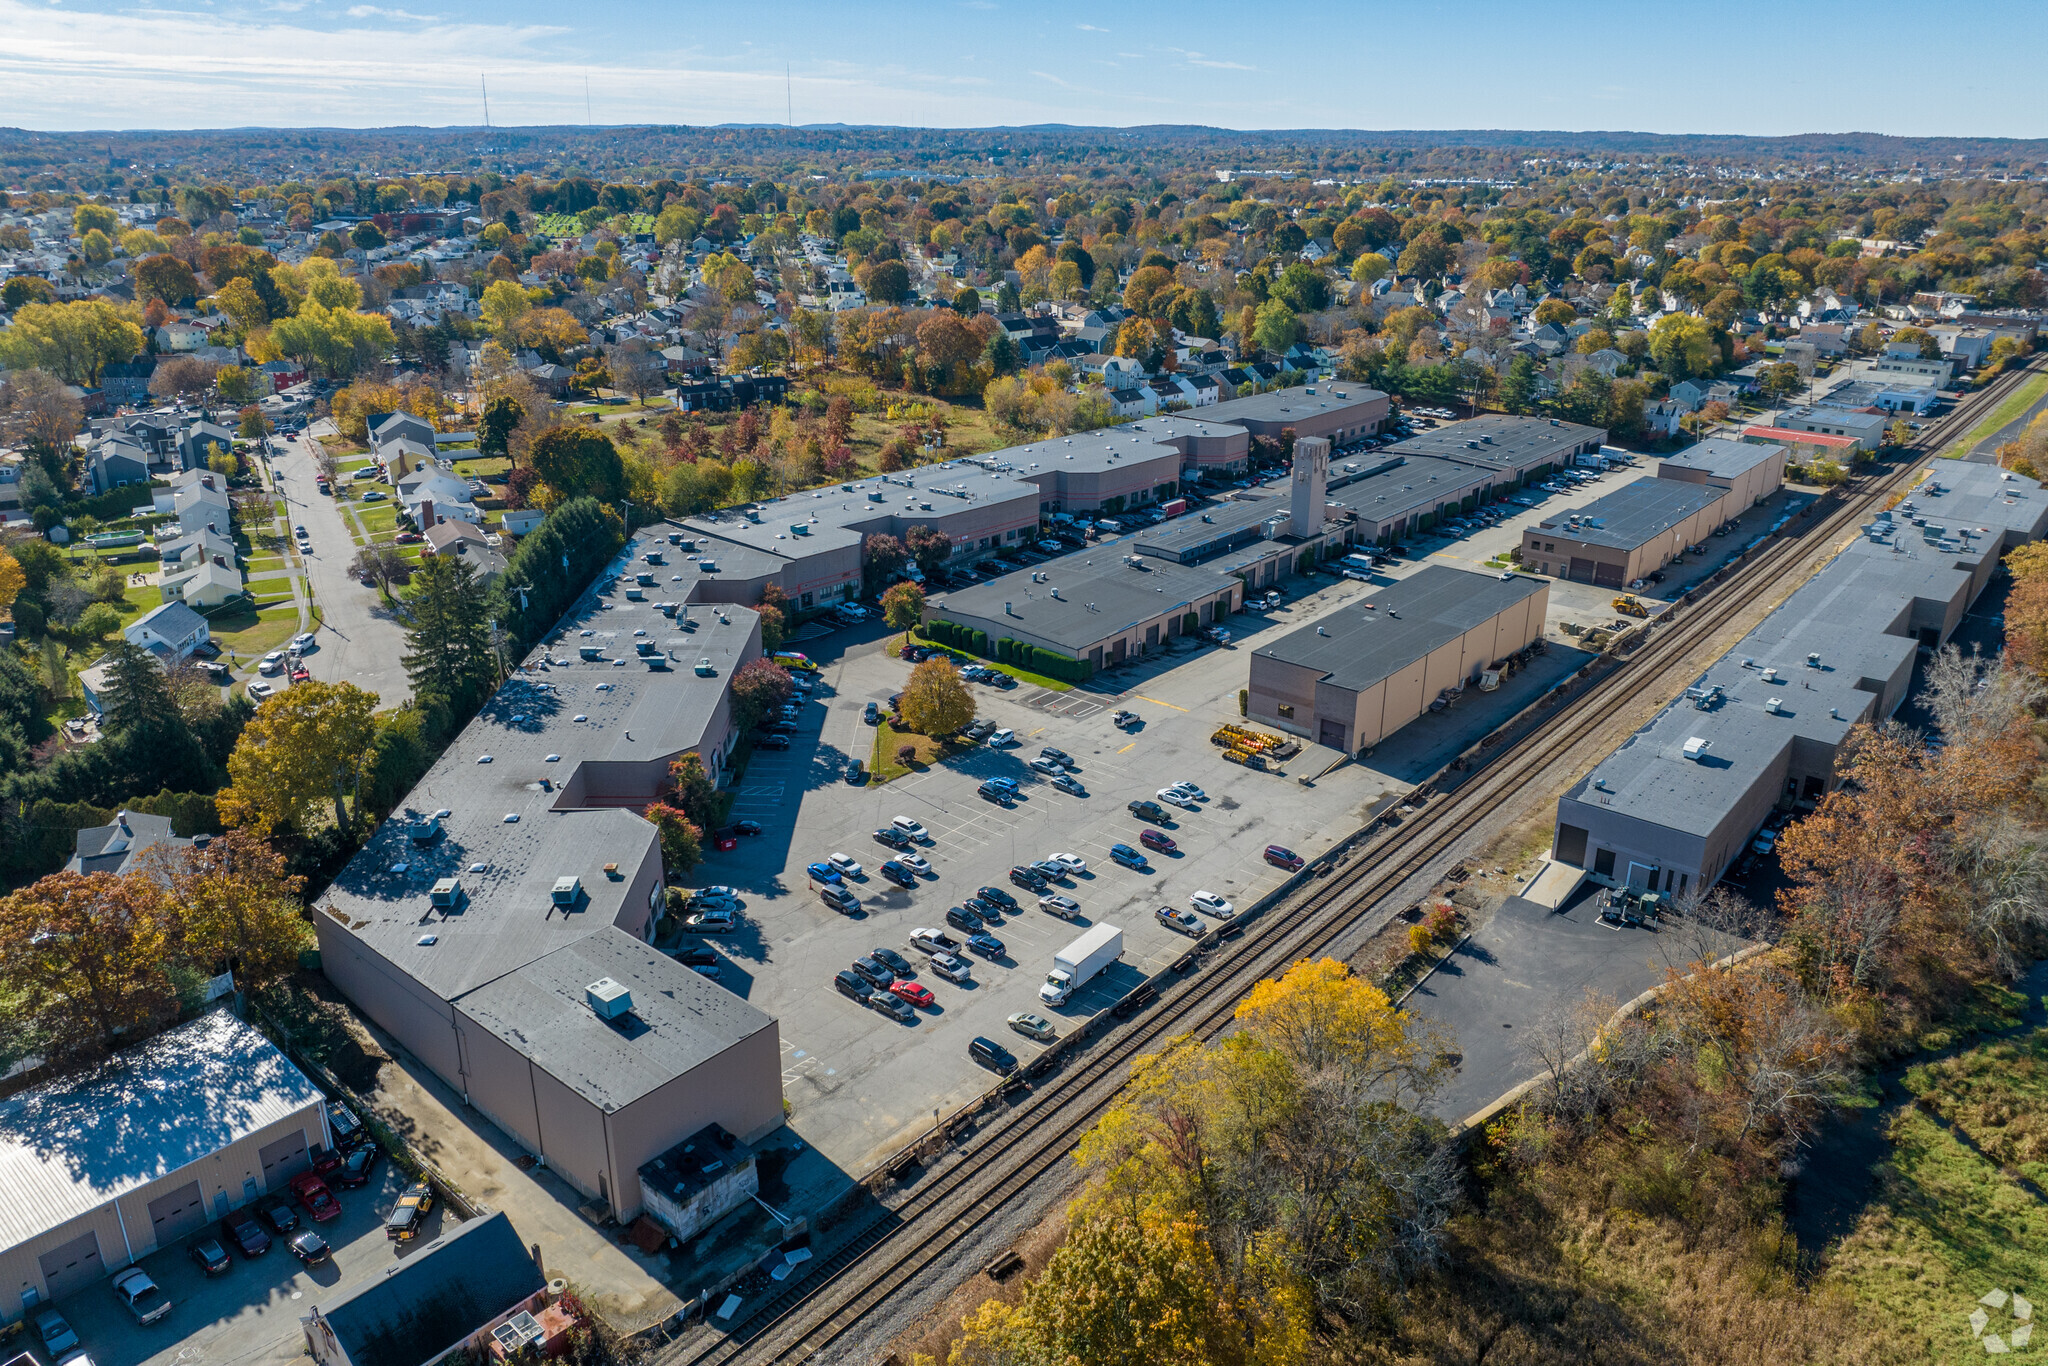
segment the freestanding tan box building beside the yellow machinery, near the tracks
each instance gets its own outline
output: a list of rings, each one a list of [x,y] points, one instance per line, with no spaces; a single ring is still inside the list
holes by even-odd
[[[1550,586],[1425,565],[1251,653],[1251,721],[1370,750],[1542,635]]]

